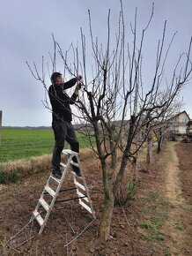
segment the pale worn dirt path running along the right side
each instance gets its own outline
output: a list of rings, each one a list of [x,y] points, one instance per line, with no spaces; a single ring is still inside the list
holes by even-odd
[[[166,223],[168,230],[168,247],[171,255],[192,255],[190,252],[190,241],[185,222],[188,222],[190,205],[182,192],[182,175],[180,169],[180,158],[175,151],[176,145],[169,148],[171,161],[166,169],[166,196],[169,200],[169,217]],[[185,150],[185,148],[183,148]]]

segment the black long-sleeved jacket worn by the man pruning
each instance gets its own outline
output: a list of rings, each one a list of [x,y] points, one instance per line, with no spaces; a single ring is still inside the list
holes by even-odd
[[[76,78],[62,85],[51,85],[48,88],[48,96],[52,106],[52,117],[55,120],[64,120],[70,122],[72,120],[72,113],[70,104],[74,104],[78,97],[77,94],[72,94],[69,97],[64,90],[73,87],[78,80]]]

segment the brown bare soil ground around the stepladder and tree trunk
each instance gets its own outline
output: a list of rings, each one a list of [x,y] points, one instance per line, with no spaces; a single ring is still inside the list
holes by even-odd
[[[41,236],[34,222],[13,237],[29,222],[50,169],[17,184],[0,185],[1,256],[192,255],[192,144],[167,143],[161,154],[154,154],[150,171],[139,171],[134,199],[124,207],[114,207],[107,242],[99,236],[103,203],[100,168],[93,159],[82,164],[96,220],[92,222],[78,201],[56,203]],[[70,174],[64,186],[72,186]],[[73,196],[73,192],[61,192],[59,200]],[[6,245],[11,237],[9,245],[15,249]],[[22,242],[26,243],[19,245]]]

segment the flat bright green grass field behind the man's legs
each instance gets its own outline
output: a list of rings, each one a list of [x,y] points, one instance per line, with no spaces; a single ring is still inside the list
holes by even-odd
[[[0,136],[0,162],[51,154],[54,146],[52,129],[2,128]],[[85,136],[77,136],[81,148],[90,147]]]

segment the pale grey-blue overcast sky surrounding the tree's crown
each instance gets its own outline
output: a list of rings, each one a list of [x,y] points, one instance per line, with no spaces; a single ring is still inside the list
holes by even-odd
[[[180,52],[188,50],[192,34],[192,0],[122,0],[128,24],[133,22],[137,7],[138,29],[144,28],[155,3],[154,16],[148,31],[144,50],[149,59],[154,55],[167,20],[167,40],[178,31],[169,53],[170,67]],[[120,11],[118,0],[0,0],[0,110],[3,125],[50,125],[51,114],[45,109],[44,89],[33,79],[26,61],[41,65],[41,56],[53,50],[51,34],[59,41],[63,51],[70,43],[80,41],[80,27],[88,33],[88,9],[92,14],[93,34],[101,41],[107,37],[107,11],[111,9],[111,25],[117,26]],[[154,47],[155,46],[155,47]],[[146,75],[151,72],[146,64]],[[185,109],[192,118],[192,81],[181,92]]]

